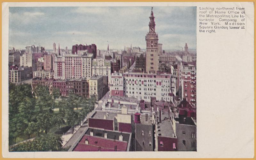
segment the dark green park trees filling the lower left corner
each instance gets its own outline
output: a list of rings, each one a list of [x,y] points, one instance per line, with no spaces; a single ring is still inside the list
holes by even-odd
[[[34,137],[37,133],[33,141],[20,143],[12,151],[64,151],[60,135],[52,135],[55,132],[52,128],[57,129],[58,125],[60,134],[66,132],[63,126],[71,126],[74,130],[74,126],[94,109],[95,96],[87,99],[70,91],[69,97],[54,103],[53,98],[58,97],[59,90],[53,90],[51,95],[47,86],[39,84],[32,93],[29,84],[9,84],[9,143],[16,143],[17,137],[29,139],[30,135]],[[59,112],[54,113],[54,107],[59,108]]]

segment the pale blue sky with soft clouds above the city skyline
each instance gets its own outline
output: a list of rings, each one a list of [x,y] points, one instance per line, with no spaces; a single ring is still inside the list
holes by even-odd
[[[151,7],[10,7],[9,47],[71,49],[96,44],[97,49],[146,48]],[[163,49],[196,49],[196,7],[154,7],[158,43]]]

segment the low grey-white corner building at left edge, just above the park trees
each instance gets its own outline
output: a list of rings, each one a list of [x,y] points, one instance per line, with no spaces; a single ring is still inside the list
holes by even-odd
[[[32,78],[32,67],[15,67],[9,69],[9,82],[21,83]]]

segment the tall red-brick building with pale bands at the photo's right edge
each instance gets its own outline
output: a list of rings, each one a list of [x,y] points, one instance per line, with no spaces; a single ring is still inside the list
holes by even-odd
[[[188,102],[196,107],[196,63],[178,63],[179,98],[187,98]]]

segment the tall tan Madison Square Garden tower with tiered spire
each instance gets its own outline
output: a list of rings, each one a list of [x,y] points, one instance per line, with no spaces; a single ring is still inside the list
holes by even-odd
[[[149,32],[146,39],[146,72],[155,73],[158,70],[158,35],[155,32],[155,17],[153,13],[153,7],[149,17]]]

